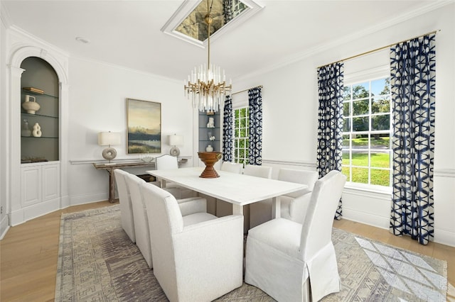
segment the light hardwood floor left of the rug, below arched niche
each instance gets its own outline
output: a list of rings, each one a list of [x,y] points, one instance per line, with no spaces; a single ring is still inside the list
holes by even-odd
[[[0,241],[0,301],[54,301],[61,214],[113,204],[72,206],[10,228]]]

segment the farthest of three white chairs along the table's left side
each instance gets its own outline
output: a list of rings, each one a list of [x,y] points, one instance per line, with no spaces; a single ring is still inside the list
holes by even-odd
[[[136,242],[136,233],[134,230],[134,216],[131,203],[131,196],[127,187],[125,175],[129,174],[121,169],[114,169],[115,183],[117,184],[117,192],[119,193],[120,220],[122,220],[122,228],[127,233],[132,242]]]

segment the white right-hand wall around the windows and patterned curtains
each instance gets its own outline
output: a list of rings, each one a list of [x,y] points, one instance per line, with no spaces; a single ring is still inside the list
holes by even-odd
[[[264,165],[315,169],[317,132],[316,68],[336,60],[437,33],[436,146],[434,160],[434,239],[455,246],[455,4],[406,21],[364,30],[346,43],[309,50],[299,60],[274,70],[262,70],[237,79],[235,91],[262,84]],[[294,37],[298,38],[298,37]],[[304,37],[301,37],[304,38]],[[390,194],[353,189],[343,194],[344,218],[389,227]]]

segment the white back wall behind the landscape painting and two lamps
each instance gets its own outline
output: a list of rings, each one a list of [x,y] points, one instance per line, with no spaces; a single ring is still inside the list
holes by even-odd
[[[97,133],[122,133],[122,145],[112,146],[116,160],[140,157],[127,155],[127,98],[161,103],[162,154],[169,152],[167,135],[173,133],[184,137],[181,156],[193,154],[193,107],[183,96],[183,82],[78,58],[70,58],[69,71],[71,205],[107,199],[108,174],[92,166],[104,161],[105,147],[97,145]]]

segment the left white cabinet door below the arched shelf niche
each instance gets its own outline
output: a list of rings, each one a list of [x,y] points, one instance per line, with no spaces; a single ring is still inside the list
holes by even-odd
[[[41,202],[41,167],[22,167],[21,201],[22,206]]]

